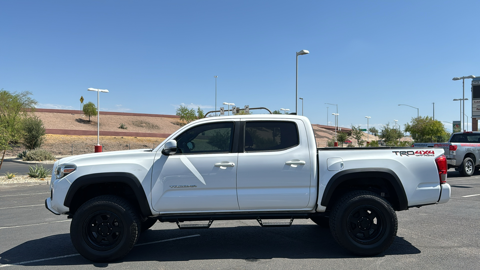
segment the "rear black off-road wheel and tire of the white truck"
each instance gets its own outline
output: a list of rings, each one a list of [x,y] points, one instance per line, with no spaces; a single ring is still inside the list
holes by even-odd
[[[392,205],[370,191],[347,193],[330,213],[330,232],[336,242],[360,256],[382,253],[392,245],[397,227]]]

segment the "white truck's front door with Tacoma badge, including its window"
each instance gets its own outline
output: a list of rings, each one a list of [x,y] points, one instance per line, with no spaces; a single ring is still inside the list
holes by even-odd
[[[196,125],[175,138],[177,153],[157,152],[152,204],[158,212],[238,210],[235,125]]]

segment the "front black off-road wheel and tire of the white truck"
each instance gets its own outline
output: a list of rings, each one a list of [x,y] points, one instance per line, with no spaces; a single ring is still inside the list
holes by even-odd
[[[119,196],[103,195],[85,202],[73,215],[70,238],[78,253],[93,262],[125,256],[140,235],[140,219]]]

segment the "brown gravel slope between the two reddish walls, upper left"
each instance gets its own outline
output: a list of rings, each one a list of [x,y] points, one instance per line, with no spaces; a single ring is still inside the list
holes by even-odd
[[[88,117],[80,114],[35,112],[42,119],[45,128],[73,129],[73,130],[96,130],[96,116]],[[120,129],[120,123],[127,129]],[[183,123],[178,118],[128,116],[128,115],[102,115],[100,114],[101,131],[124,131],[124,132],[148,132],[171,134],[179,129]]]

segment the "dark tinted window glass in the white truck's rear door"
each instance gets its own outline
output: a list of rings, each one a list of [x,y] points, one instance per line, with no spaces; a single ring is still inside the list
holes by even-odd
[[[299,145],[297,125],[285,121],[245,123],[245,152],[283,150]]]

